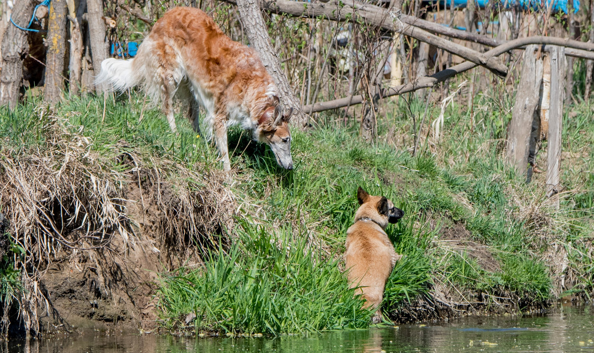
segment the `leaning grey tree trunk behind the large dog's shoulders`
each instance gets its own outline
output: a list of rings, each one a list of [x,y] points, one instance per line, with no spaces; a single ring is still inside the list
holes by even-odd
[[[279,88],[281,103],[285,109],[293,108],[292,125],[303,128],[307,124],[309,117],[303,113],[301,104],[299,104],[298,98],[293,93],[293,88],[290,87],[289,81],[283,74],[279,58],[275,55],[270,43],[270,37],[268,37],[268,30],[266,24],[264,24],[262,12],[260,12],[260,4],[258,4],[257,0],[238,0],[237,7],[249,43],[260,54],[260,59],[262,59],[264,66],[266,66]]]

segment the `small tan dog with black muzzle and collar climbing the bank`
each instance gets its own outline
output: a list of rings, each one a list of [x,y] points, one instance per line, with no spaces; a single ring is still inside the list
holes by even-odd
[[[396,223],[404,212],[385,196],[371,196],[361,187],[357,198],[361,206],[355,214],[355,224],[346,231],[347,277],[350,288],[361,287],[355,294],[362,294],[364,307],[377,309],[372,322],[378,323],[386,280],[402,257],[394,251],[385,230],[388,223]]]

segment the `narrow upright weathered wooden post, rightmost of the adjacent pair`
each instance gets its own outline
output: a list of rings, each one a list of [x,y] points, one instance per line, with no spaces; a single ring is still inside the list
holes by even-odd
[[[565,59],[564,47],[547,46],[546,50],[551,56],[551,103],[546,151],[546,195],[549,198],[554,198],[554,205],[558,208],[561,175],[561,120],[563,119],[567,59]]]

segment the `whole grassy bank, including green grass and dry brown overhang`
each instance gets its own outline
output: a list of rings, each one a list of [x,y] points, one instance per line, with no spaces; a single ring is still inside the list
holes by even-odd
[[[109,245],[109,237],[89,240],[89,234],[125,233],[128,243],[146,237],[144,225],[129,215],[130,203],[118,201],[134,197],[133,185],[153,187],[159,195],[155,204],[162,213],[152,215],[160,250],[154,262],[161,263],[155,289],[160,326],[170,330],[277,334],[366,327],[370,313],[360,309],[340,272],[358,186],[386,195],[405,211],[387,229],[396,251],[405,255],[386,286],[389,319],[538,309],[565,295],[589,300],[592,103],[570,107],[564,119],[564,190],[557,210],[545,198],[543,174],[526,185],[504,164],[510,100],[478,96],[473,112],[448,106],[440,138],[431,122],[441,107],[430,104],[412,155],[425,104],[409,98],[387,104],[373,146],[359,139],[358,126],[331,115],[320,117],[311,131],[293,132],[294,171],[281,170],[267,147],[233,129],[231,177],[187,121],[179,117],[180,132],[171,134],[159,110],[144,106],[142,97],[105,104],[72,97],[56,110],[36,100],[13,112],[3,108],[3,180],[12,180],[7,176],[16,164],[43,157],[49,166],[45,178],[63,173],[54,190],[62,193],[62,206],[43,203],[53,195],[46,187],[34,194],[41,206],[31,212],[53,210],[53,221],[67,217],[59,232],[48,230],[43,217],[15,227],[23,213],[15,211],[15,198],[3,194],[0,211],[12,220],[11,249],[24,250],[2,262],[2,281],[15,284],[12,291],[3,289],[2,300],[17,298],[12,303],[22,306],[18,298],[31,291],[26,281],[24,287],[14,281],[14,269],[43,280],[41,272],[31,273],[31,263],[42,259],[49,266],[69,258],[63,253],[71,254],[72,247]],[[541,151],[542,169],[545,158]],[[93,185],[110,191],[97,193]],[[85,192],[90,196],[82,199]],[[97,203],[101,197],[105,202]],[[71,204],[64,206],[66,199]],[[115,213],[101,215],[106,204]],[[27,227],[32,228],[24,234]],[[44,243],[44,236],[53,243]]]

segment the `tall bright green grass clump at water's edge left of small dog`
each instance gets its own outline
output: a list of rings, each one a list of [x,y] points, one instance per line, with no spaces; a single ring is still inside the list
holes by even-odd
[[[195,271],[162,278],[159,290],[171,327],[194,313],[195,331],[306,333],[368,326],[371,312],[353,297],[337,260],[324,259],[307,234],[290,229],[271,235],[247,220],[239,222],[231,249],[211,253]]]

